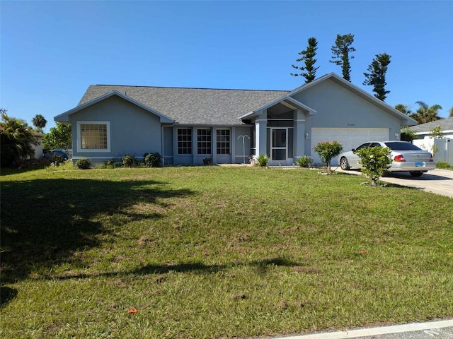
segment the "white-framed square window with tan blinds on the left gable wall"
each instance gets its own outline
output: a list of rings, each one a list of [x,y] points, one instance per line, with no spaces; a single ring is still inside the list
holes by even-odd
[[[77,121],[78,148],[83,152],[110,152],[109,121]]]

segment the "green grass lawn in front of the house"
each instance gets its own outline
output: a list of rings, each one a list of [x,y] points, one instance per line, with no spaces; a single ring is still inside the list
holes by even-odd
[[[451,198],[300,168],[1,174],[1,338],[251,338],[453,316]]]

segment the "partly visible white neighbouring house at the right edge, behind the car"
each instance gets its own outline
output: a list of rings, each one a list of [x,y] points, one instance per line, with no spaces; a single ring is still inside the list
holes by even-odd
[[[442,138],[433,139],[430,133],[433,129],[440,127],[440,132],[443,133]],[[417,137],[414,145],[434,153],[434,160],[446,161],[449,165],[453,165],[453,117],[440,119],[420,124],[409,128],[415,132]]]

